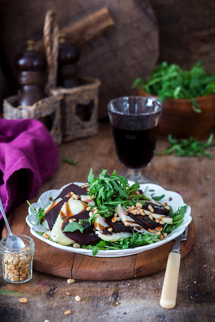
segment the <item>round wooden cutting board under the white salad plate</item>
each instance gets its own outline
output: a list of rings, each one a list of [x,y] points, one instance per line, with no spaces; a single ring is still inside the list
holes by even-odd
[[[31,200],[31,203],[36,199]],[[174,241],[142,253],[125,257],[92,257],[54,248],[40,241],[30,233],[30,227],[25,221],[28,205],[22,204],[8,217],[14,234],[31,236],[35,251],[33,268],[43,273],[65,278],[85,280],[118,280],[150,275],[166,268],[168,255]],[[2,237],[7,236],[4,226]],[[188,226],[187,240],[181,242],[181,258],[192,249],[196,237],[193,221]]]

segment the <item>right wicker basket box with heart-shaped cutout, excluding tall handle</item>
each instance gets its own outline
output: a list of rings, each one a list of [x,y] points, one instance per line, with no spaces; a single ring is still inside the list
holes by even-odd
[[[98,90],[101,82],[93,78],[82,78],[87,82],[71,89],[57,87],[51,90],[54,95],[63,94],[61,101],[63,141],[88,137],[98,132]],[[92,104],[92,108],[89,107]],[[83,120],[77,108],[90,109],[87,120]],[[86,111],[87,112],[87,111]]]

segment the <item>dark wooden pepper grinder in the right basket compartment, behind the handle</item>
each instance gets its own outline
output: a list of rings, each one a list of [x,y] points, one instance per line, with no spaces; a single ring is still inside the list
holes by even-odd
[[[58,86],[72,88],[80,85],[77,79],[79,50],[72,43],[66,43],[66,34],[59,35]]]

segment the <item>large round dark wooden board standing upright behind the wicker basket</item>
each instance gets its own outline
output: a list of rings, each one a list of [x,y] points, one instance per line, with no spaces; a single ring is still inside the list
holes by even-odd
[[[100,23],[93,27],[88,22],[88,27],[82,30],[79,19],[86,19],[86,16],[104,6],[108,7],[115,26],[80,46],[79,75],[102,81],[99,90],[99,116],[107,116],[109,100],[132,94],[133,80],[138,76],[149,76],[157,62],[158,26],[147,0],[3,0],[0,20],[4,33],[0,33],[0,42],[13,73],[15,74],[14,59],[25,49],[25,41],[39,41],[43,38],[47,10],[51,8],[59,14],[62,31],[67,31],[74,39],[81,37],[83,33],[83,38],[87,40],[91,38],[92,31],[93,34],[99,34],[101,29],[96,26]],[[113,24],[110,18],[106,22],[108,26]],[[73,23],[78,36],[73,33]],[[83,41],[83,38],[80,40]]]

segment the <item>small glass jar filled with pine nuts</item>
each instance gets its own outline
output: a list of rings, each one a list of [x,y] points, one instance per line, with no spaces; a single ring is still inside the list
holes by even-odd
[[[3,278],[11,283],[24,283],[32,278],[32,261],[34,256],[34,241],[25,235],[20,237],[24,248],[11,249],[5,247],[7,237],[0,242],[0,254],[3,266]]]

